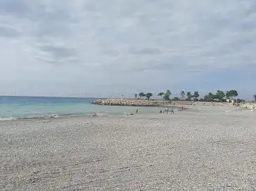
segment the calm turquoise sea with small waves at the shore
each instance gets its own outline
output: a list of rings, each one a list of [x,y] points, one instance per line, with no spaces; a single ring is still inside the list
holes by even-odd
[[[126,115],[139,110],[140,113],[156,113],[156,107],[98,106],[91,102],[98,98],[74,97],[9,97],[0,96],[0,120],[44,119],[62,116]]]

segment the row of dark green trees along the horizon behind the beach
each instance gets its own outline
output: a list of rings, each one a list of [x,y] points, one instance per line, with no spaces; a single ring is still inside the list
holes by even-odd
[[[159,92],[157,94],[158,97],[161,97],[161,99],[169,101],[178,101],[178,100],[186,100],[186,101],[220,101],[224,102],[227,99],[235,99],[239,94],[236,90],[228,90],[227,92],[224,92],[223,90],[218,90],[215,93],[209,92],[208,94],[204,95],[203,97],[200,97],[199,92],[185,92],[184,90],[181,90],[180,95],[181,97],[174,97],[171,99],[172,92],[170,90],[166,90],[166,92]],[[140,97],[151,99],[153,94],[151,92],[144,93],[140,92],[139,94],[135,94],[135,98],[137,99]],[[256,101],[256,95],[254,95],[255,101]],[[243,99],[236,99],[237,102],[244,101]]]

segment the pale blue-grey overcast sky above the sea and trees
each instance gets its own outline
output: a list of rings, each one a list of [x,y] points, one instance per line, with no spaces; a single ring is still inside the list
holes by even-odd
[[[256,94],[255,0],[0,0],[0,94]]]

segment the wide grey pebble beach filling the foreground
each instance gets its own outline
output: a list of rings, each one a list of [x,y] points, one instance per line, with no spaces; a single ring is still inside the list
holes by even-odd
[[[0,122],[0,190],[255,190],[256,113]]]

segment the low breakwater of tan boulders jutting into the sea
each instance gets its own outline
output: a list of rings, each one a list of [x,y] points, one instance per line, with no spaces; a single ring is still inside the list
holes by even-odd
[[[144,99],[98,99],[93,104],[104,106],[160,106],[162,101]]]

